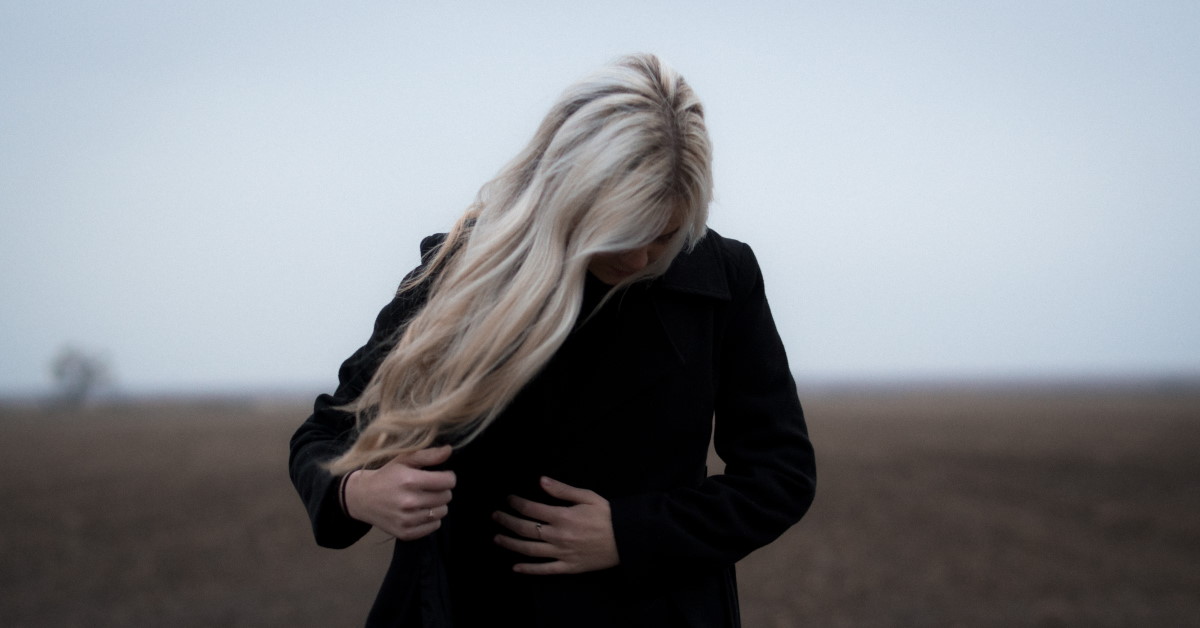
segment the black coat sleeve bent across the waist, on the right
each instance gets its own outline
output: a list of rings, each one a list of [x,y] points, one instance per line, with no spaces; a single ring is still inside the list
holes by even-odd
[[[733,564],[812,503],[816,461],[796,383],[757,261],[749,246],[737,246],[733,301],[715,358],[714,444],[725,472],[698,486],[612,502],[629,569]]]

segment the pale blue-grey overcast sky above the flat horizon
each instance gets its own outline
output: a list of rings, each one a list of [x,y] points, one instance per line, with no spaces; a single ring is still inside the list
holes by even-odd
[[[451,4],[445,4],[451,5]],[[0,395],[322,390],[571,82],[704,101],[802,382],[1200,375],[1200,2],[0,1]]]

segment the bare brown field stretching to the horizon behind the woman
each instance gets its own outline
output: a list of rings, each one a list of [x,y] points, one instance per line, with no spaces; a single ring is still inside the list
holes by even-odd
[[[1200,388],[803,399],[817,501],[739,566],[746,627],[1200,624]],[[360,624],[389,548],[313,544],[305,406],[0,406],[0,624]]]

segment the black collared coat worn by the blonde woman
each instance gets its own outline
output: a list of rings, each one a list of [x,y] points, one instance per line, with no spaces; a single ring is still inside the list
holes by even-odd
[[[422,256],[438,244],[427,238]],[[584,311],[602,289],[589,277]],[[384,307],[337,391],[317,399],[292,439],[292,479],[320,545],[344,548],[368,530],[342,512],[338,478],[319,466],[353,436],[353,418],[332,407],[360,394],[424,299],[414,291]],[[710,437],[725,462],[714,476]],[[426,626],[452,615],[458,628],[738,626],[733,564],[798,521],[816,482],[750,247],[709,232],[664,276],[614,295],[446,466],[458,478],[450,514],[437,534],[395,544],[370,623],[407,626],[420,614]],[[548,501],[540,476],[610,501],[618,567],[511,572],[518,557],[492,543],[490,514],[508,495]]]

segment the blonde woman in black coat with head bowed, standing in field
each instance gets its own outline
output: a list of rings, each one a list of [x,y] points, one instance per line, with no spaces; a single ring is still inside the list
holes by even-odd
[[[317,543],[396,538],[370,626],[738,626],[733,564],[800,519],[815,465],[710,190],[700,101],[629,56],[421,244],[292,439]]]

